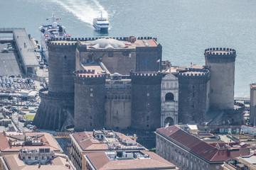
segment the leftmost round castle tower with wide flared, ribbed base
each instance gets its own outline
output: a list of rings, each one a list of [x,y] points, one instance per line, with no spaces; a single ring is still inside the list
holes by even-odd
[[[61,130],[68,113],[74,113],[75,49],[76,41],[48,42],[48,90],[41,89],[41,105],[33,120],[40,129]]]

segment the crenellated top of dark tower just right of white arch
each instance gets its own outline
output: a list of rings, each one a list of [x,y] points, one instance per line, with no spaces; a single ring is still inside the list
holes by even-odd
[[[178,82],[184,84],[204,84],[210,80],[208,69],[186,69],[178,72]]]

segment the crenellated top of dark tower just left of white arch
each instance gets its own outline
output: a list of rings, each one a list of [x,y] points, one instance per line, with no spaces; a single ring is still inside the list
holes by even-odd
[[[161,84],[161,72],[130,72],[132,84],[155,85]]]

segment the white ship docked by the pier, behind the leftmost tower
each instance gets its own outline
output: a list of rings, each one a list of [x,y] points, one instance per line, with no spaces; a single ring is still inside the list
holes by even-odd
[[[60,18],[55,16],[55,13],[53,13],[52,17],[49,17],[46,19],[47,21],[50,20],[50,25],[43,25],[39,27],[39,30],[41,32],[41,47],[43,51],[43,60],[48,64],[48,47],[47,47],[47,41],[52,38],[70,38],[71,35],[65,32],[65,27],[61,26],[57,23],[57,21],[60,21]]]

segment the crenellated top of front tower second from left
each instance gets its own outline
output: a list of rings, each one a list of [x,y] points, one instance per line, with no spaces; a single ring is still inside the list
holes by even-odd
[[[78,84],[102,84],[106,80],[106,74],[96,73],[94,69],[76,70],[73,77]]]

